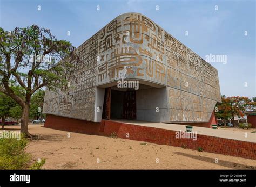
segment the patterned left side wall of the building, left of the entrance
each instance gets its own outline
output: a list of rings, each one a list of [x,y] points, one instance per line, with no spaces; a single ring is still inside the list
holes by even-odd
[[[70,87],[57,93],[46,90],[44,113],[94,120],[98,35],[76,49],[81,60],[73,62],[77,70],[69,75]]]

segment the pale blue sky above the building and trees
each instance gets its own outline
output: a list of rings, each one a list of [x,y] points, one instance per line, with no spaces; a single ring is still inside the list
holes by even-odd
[[[58,39],[68,40],[76,47],[118,15],[142,13],[204,59],[210,53],[227,55],[226,64],[211,62],[218,69],[222,95],[256,96],[255,1],[0,2],[0,25],[5,30],[36,24],[50,28]],[[37,10],[38,5],[41,11]],[[97,5],[100,6],[99,11]],[[217,11],[215,5],[218,6]],[[67,36],[67,31],[70,31],[70,36]],[[188,31],[188,36],[185,31]]]

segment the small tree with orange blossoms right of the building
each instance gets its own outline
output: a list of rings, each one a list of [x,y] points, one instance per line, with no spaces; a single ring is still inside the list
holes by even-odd
[[[217,118],[224,119],[232,118],[234,123],[235,115],[244,116],[246,112],[246,107],[251,102],[251,99],[248,97],[232,96],[226,97],[225,95],[221,96],[221,102],[217,104],[217,109],[215,110]]]

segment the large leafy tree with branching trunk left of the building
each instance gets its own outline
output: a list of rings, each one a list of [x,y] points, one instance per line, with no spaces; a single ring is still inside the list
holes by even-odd
[[[0,27],[0,41],[0,92],[22,107],[23,121],[28,121],[31,97],[37,90],[47,86],[53,91],[69,91],[68,77],[81,62],[69,41],[57,40],[49,29],[37,25],[12,31]],[[15,92],[13,86],[17,85],[24,91],[22,96]],[[36,107],[32,104],[30,114],[38,117]],[[27,124],[21,126],[21,131],[29,135]]]

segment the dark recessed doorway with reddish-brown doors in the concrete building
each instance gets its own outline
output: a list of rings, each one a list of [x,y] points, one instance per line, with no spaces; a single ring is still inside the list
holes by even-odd
[[[136,92],[106,88],[102,119],[136,119]]]

